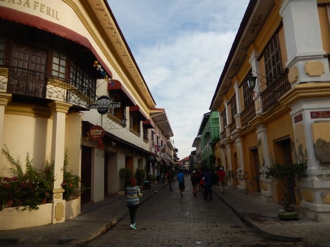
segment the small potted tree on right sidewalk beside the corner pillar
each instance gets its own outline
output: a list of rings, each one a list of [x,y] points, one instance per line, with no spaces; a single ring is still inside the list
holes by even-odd
[[[302,175],[306,169],[306,163],[284,165],[276,164],[272,167],[268,167],[268,170],[265,173],[267,179],[274,178],[277,181],[282,181],[283,183],[284,210],[278,211],[278,217],[281,220],[293,220],[298,217],[297,211],[289,209],[290,200],[288,195],[288,187],[295,185],[299,176]]]

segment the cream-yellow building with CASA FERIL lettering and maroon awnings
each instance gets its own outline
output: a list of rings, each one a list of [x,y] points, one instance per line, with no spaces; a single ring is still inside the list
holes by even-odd
[[[49,203],[3,209],[0,230],[77,217],[82,202],[123,189],[120,168],[173,164],[171,137],[107,1],[0,1],[0,147],[21,161],[29,153],[38,169],[52,162],[55,176]],[[71,201],[61,188],[66,149],[68,170],[89,187]],[[1,154],[0,176],[9,168]]]

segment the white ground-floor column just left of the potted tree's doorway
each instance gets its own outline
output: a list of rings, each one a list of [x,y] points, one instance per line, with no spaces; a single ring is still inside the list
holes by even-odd
[[[266,126],[264,124],[257,126],[256,133],[258,137],[258,156],[260,163],[260,195],[262,199],[272,201],[272,181],[265,178],[267,167],[270,167]]]

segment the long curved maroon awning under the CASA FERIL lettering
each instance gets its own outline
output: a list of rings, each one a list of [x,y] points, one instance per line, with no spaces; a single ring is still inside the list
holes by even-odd
[[[87,47],[94,54],[95,58],[102,65],[102,67],[106,70],[108,76],[112,78],[112,72],[110,68],[106,65],[100,55],[98,55],[94,47],[90,44],[89,40],[78,32],[75,32],[67,27],[40,18],[38,16],[30,15],[21,11],[2,6],[0,6],[0,16],[2,19],[15,21],[29,26],[34,26]]]

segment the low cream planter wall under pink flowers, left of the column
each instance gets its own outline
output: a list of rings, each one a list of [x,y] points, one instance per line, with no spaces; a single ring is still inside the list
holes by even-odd
[[[16,210],[15,207],[6,207],[0,211],[0,230],[13,230],[25,227],[43,226],[51,223],[52,203],[38,205],[35,210]],[[23,207],[19,207],[23,209]]]

